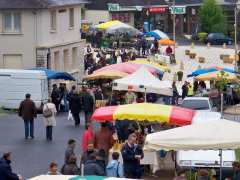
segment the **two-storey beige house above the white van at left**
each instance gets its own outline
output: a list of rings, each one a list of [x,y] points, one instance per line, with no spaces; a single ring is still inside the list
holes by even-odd
[[[47,67],[83,75],[81,10],[85,2],[0,3],[0,68]],[[24,3],[25,2],[25,3]]]

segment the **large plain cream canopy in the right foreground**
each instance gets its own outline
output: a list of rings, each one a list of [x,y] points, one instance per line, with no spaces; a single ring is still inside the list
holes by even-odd
[[[240,123],[216,120],[147,135],[144,149],[228,150],[240,148]]]

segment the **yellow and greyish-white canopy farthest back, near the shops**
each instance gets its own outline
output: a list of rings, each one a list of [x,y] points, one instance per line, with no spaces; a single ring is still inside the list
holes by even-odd
[[[128,24],[122,23],[121,21],[118,21],[118,20],[101,23],[99,25],[96,25],[96,28],[105,30],[106,33],[109,33],[109,34],[115,34],[115,33],[128,33],[130,35],[141,34],[140,31],[137,30],[136,28]]]

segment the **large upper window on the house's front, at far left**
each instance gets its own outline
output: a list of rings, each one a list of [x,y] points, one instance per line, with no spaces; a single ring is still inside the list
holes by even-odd
[[[19,12],[3,13],[3,31],[5,33],[20,33],[21,13]]]

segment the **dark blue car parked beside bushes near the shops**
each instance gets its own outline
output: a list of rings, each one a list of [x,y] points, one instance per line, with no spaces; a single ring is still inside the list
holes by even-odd
[[[210,33],[205,39],[205,43],[210,43],[212,45],[223,45],[226,43],[227,45],[233,44],[233,39],[225,36],[223,33]]]

